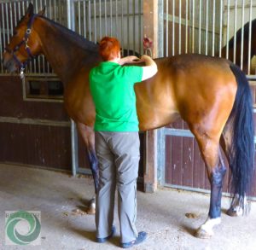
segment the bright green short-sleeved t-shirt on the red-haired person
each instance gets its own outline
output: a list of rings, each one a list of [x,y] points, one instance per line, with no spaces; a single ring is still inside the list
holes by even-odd
[[[95,131],[138,131],[133,86],[143,68],[104,61],[90,71],[90,92],[96,106]]]

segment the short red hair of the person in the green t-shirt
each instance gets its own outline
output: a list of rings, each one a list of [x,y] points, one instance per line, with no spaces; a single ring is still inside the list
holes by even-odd
[[[100,55],[103,61],[110,61],[118,57],[120,50],[121,47],[117,38],[102,38],[100,42]]]

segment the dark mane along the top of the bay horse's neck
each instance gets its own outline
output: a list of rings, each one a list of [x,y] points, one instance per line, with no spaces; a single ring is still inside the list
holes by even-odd
[[[44,16],[40,17],[43,18],[44,20],[47,20],[51,25],[55,26],[57,30],[61,32],[62,35],[66,36],[70,40],[73,40],[73,42],[75,42],[76,45],[79,46],[79,48],[97,52],[97,44],[87,40],[83,36],[79,35],[77,32],[69,30],[67,27],[62,26],[61,24],[55,22],[54,20],[50,20],[49,18]]]

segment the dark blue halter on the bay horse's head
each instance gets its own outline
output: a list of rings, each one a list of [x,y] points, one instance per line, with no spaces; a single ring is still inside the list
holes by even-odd
[[[30,18],[30,20],[28,21],[27,23],[27,27],[26,27],[26,33],[25,33],[25,36],[24,38],[21,40],[21,42],[19,44],[17,44],[15,46],[15,49],[9,49],[8,47],[5,47],[4,49],[9,52],[9,54],[13,55],[15,61],[17,62],[17,64],[19,65],[20,67],[20,78],[24,78],[24,70],[25,70],[25,67],[26,67],[26,64],[27,64],[27,61],[31,60],[32,58],[34,58],[34,56],[32,55],[32,52],[31,52],[31,49],[29,48],[28,46],[28,38],[31,34],[31,27],[32,27],[32,24],[35,20],[35,18],[37,17],[37,15],[32,15],[32,17]],[[19,58],[17,57],[17,55],[15,55],[15,52],[18,51],[20,49],[20,47],[25,44],[25,49],[26,49],[26,53],[28,55],[28,58],[26,61],[24,62],[21,62],[19,60]]]

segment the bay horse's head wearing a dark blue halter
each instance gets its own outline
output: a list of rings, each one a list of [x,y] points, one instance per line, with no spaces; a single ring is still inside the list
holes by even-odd
[[[41,53],[37,32],[33,30],[33,23],[38,15],[44,15],[44,9],[38,14],[33,13],[33,5],[29,4],[24,15],[15,27],[14,35],[4,48],[3,67],[13,73],[23,72],[26,61]]]

